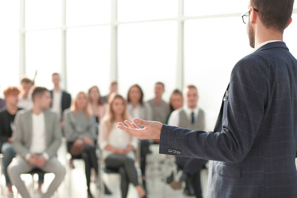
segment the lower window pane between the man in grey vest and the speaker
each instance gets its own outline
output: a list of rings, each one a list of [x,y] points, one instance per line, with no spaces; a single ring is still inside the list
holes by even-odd
[[[185,84],[198,87],[199,105],[206,109],[209,130],[215,124],[232,68],[251,50],[240,17],[185,23]]]

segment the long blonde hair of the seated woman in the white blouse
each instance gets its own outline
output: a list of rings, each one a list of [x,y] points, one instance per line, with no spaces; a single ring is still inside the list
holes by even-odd
[[[128,120],[129,122],[131,122],[131,118],[130,118],[130,115],[128,113],[128,110],[127,110],[127,102],[126,100],[121,96],[121,95],[118,95],[118,94],[115,94],[115,93],[112,93],[108,99],[108,105],[107,105],[107,110],[106,110],[106,114],[104,116],[104,119],[103,119],[103,123],[102,124],[106,124],[106,128],[107,128],[107,132],[106,132],[106,139],[108,138],[113,126],[114,126],[114,122],[115,122],[115,116],[114,116],[114,112],[112,110],[112,105],[113,105],[113,102],[115,99],[122,99],[123,102],[124,102],[124,105],[125,105],[125,109],[124,109],[124,112],[122,114],[122,117],[123,117],[123,121],[124,120]]]

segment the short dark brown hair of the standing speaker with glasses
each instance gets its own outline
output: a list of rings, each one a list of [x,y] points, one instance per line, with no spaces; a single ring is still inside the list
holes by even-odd
[[[294,0],[250,0],[266,28],[284,32],[293,13]]]

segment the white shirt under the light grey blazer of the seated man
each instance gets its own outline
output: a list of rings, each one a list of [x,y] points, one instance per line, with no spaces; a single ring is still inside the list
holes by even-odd
[[[32,140],[30,153],[26,155],[28,160],[32,153],[42,153],[46,160],[49,159],[49,155],[45,153],[47,145],[46,140],[46,123],[44,112],[40,114],[32,113]]]

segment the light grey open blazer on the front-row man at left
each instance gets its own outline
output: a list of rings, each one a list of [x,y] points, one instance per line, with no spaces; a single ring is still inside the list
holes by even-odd
[[[46,124],[47,148],[45,152],[49,158],[57,153],[61,145],[61,129],[57,114],[49,110],[44,111]],[[21,110],[15,117],[15,130],[12,133],[13,148],[23,158],[30,153],[32,141],[32,109]]]

